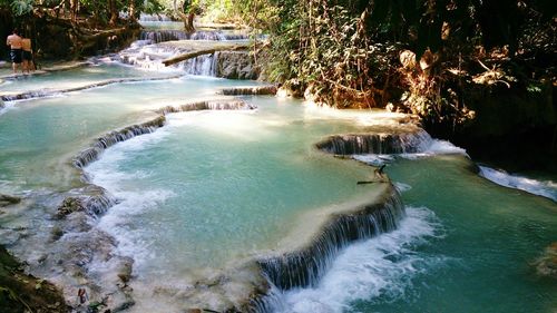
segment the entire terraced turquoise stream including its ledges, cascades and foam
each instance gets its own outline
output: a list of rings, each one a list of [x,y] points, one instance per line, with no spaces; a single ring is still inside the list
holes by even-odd
[[[118,72],[111,70],[77,71]],[[63,75],[1,87],[21,92],[79,77]],[[75,307],[78,287],[107,309],[130,313],[555,307],[556,287],[528,270],[557,235],[555,202],[478,177],[461,149],[452,154],[459,149],[398,126],[398,138],[331,137],[389,130],[294,100],[184,105],[237,81],[120,78],[107,85],[82,80],[92,87],[11,101],[16,109],[0,111],[0,133],[7,134],[0,137],[0,187],[23,198],[2,208],[0,241],[31,273],[62,286]],[[257,110],[251,110],[254,104]],[[215,111],[192,111],[198,109]],[[346,206],[390,185],[356,185],[373,168],[311,148],[324,137],[331,139],[316,146],[331,154],[430,154],[393,158],[385,168],[411,206],[403,209],[394,197],[383,207]],[[340,214],[345,207],[361,211]],[[443,227],[448,232],[436,236]],[[283,245],[284,238],[291,239]],[[271,284],[262,282],[265,275]]]

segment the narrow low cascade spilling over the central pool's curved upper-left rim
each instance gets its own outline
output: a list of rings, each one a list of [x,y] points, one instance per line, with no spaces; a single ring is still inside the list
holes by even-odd
[[[84,168],[91,162],[97,160],[106,148],[133,137],[153,133],[155,129],[163,127],[165,125],[165,120],[164,116],[159,116],[154,120],[140,125],[133,125],[121,130],[108,133],[107,135],[95,140],[89,148],[80,151],[75,157],[74,165],[78,168]]]

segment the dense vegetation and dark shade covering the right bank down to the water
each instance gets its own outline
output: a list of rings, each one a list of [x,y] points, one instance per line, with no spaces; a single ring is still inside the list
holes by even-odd
[[[238,0],[266,72],[330,106],[419,115],[479,154],[557,170],[557,16],[550,0]],[[515,164],[517,159],[511,159]]]

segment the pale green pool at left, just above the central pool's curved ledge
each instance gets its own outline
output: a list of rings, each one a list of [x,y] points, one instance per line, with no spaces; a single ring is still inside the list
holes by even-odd
[[[109,69],[104,76],[119,69],[130,71],[126,67]],[[59,84],[74,81],[74,74],[84,77],[77,70],[66,76],[59,74],[60,80],[63,79]],[[13,84],[25,88],[21,85],[26,82]],[[68,160],[95,136],[135,124],[167,105],[213,97],[217,88],[235,84],[187,78],[119,84],[11,105],[0,115],[0,180],[14,188],[67,188],[68,184],[75,184],[67,176]]]

